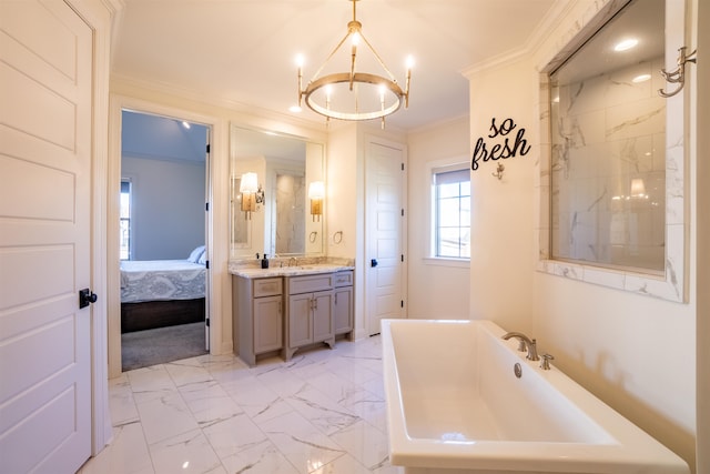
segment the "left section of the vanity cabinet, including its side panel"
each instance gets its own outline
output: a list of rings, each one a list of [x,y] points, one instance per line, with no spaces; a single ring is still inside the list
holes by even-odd
[[[283,279],[233,280],[233,335],[239,356],[255,365],[258,355],[283,349]]]

